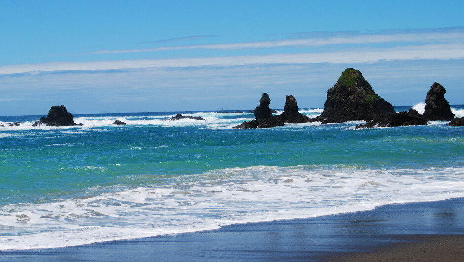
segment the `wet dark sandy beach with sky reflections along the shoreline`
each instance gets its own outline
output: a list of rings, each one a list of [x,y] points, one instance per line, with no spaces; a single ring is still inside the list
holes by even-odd
[[[83,246],[2,251],[3,261],[462,261],[464,199]]]

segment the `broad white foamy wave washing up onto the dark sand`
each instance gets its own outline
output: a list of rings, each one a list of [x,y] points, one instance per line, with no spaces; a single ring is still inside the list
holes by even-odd
[[[464,168],[254,166],[0,208],[0,250],[54,248],[464,197]]]

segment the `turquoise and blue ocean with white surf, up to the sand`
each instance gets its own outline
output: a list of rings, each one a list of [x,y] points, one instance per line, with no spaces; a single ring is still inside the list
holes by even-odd
[[[464,105],[451,107],[464,116]],[[322,111],[300,110],[311,118]],[[177,113],[205,121],[166,121]],[[0,250],[464,197],[464,128],[448,121],[237,130],[254,115],[155,112],[75,114],[84,126],[32,127],[39,118],[0,116],[21,122],[0,127]]]

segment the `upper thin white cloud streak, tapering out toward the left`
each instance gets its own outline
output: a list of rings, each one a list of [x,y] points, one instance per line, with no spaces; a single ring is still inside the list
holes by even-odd
[[[338,32],[338,33],[299,33],[299,38],[288,38],[273,41],[253,41],[241,43],[224,44],[197,44],[183,46],[161,46],[145,49],[127,50],[101,50],[89,54],[116,54],[116,53],[135,53],[168,50],[188,50],[188,49],[218,49],[218,50],[237,50],[237,49],[258,49],[258,48],[278,48],[278,47],[319,47],[329,45],[349,45],[349,44],[430,44],[430,43],[464,43],[464,27],[446,29],[427,29],[427,30],[390,30],[379,33],[358,33],[358,32]],[[182,38],[179,38],[182,39]],[[155,43],[155,42],[153,42]],[[160,42],[158,42],[160,43]]]

